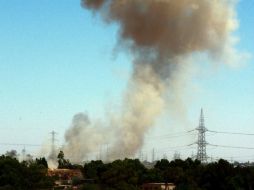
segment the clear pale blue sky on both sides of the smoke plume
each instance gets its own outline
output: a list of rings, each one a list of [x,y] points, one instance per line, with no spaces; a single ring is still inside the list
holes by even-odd
[[[254,1],[239,0],[237,14],[236,48],[251,57]],[[80,0],[0,0],[0,143],[42,144],[55,130],[62,144],[76,113],[103,120],[107,110],[117,110],[132,57],[119,51],[116,43],[117,26],[104,24],[83,9]],[[175,149],[167,147],[195,142],[196,136],[162,135],[194,129],[201,107],[210,130],[254,133],[253,58],[237,67],[197,63],[191,73],[187,79],[191,86],[184,95],[186,118],[182,118],[188,122],[179,122],[181,115],[174,119],[165,113],[148,134],[144,147],[148,156],[155,147],[161,149],[158,155],[170,158]],[[211,144],[254,148],[254,136],[207,135]],[[195,154],[192,147],[188,150]],[[0,144],[0,153],[22,148]],[[26,149],[34,154],[39,148]],[[186,150],[182,151],[184,155]],[[254,149],[208,146],[207,153],[254,161]]]

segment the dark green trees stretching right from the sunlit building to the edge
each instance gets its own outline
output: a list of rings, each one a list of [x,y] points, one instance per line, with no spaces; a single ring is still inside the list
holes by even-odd
[[[198,160],[158,161],[147,169],[139,160],[116,160],[84,165],[84,175],[96,181],[85,189],[137,190],[147,182],[175,183],[177,190],[254,189],[254,167],[233,165],[226,160],[201,164]]]

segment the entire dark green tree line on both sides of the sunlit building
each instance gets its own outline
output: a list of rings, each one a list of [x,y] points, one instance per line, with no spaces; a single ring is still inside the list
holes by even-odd
[[[83,185],[83,190],[139,190],[144,183],[174,183],[176,190],[254,189],[253,166],[235,165],[223,159],[208,164],[190,158],[162,159],[153,168],[146,168],[138,159],[127,158],[74,165],[60,151],[58,168],[80,169],[90,182]],[[47,170],[45,158],[18,161],[8,152],[0,156],[0,190],[52,189],[55,178],[47,176]]]

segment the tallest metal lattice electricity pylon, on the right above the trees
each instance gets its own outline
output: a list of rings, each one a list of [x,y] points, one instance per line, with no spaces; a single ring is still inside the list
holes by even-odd
[[[207,129],[205,128],[205,119],[203,109],[201,109],[200,119],[199,119],[199,126],[196,128],[198,131],[198,152],[197,152],[197,159],[201,161],[201,163],[207,162],[207,155],[206,155],[206,140],[205,140],[205,132]]]

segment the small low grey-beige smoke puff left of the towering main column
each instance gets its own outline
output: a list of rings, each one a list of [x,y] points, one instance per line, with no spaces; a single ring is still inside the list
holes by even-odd
[[[87,114],[78,113],[73,117],[72,125],[65,133],[67,146],[64,147],[64,153],[72,162],[80,163],[91,158],[90,153],[99,151],[100,145],[108,143],[110,127],[100,126],[99,123],[92,124]]]

